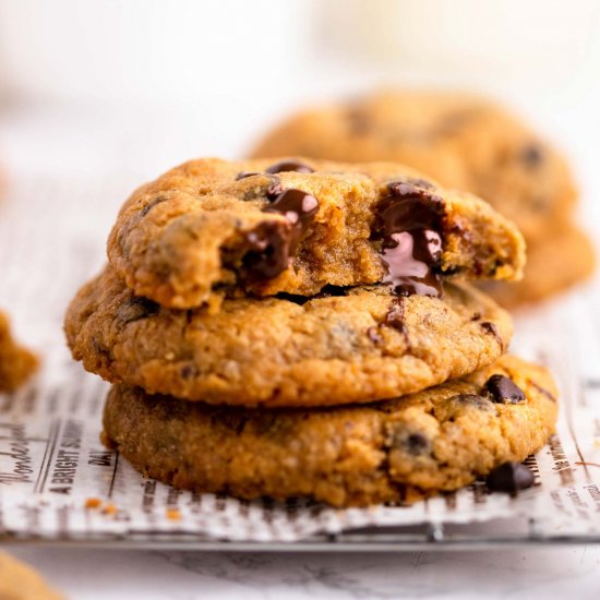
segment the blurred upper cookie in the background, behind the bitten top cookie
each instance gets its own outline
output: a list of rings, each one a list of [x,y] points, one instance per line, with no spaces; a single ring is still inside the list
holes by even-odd
[[[528,242],[561,221],[576,199],[569,168],[550,144],[503,108],[467,94],[386,91],[307,110],[252,152],[293,154],[397,160],[485,199]]]

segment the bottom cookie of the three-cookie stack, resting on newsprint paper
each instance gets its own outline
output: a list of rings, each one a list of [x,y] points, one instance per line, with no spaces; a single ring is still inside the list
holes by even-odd
[[[211,407],[115,386],[105,440],[177,488],[334,506],[412,502],[539,451],[556,388],[514,357],[404,398],[329,409]]]

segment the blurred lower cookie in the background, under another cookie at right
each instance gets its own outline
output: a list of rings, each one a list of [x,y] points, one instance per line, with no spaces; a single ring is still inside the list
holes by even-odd
[[[590,239],[567,221],[528,247],[523,281],[485,281],[481,288],[503,307],[517,309],[585,281],[595,268],[596,252]]]

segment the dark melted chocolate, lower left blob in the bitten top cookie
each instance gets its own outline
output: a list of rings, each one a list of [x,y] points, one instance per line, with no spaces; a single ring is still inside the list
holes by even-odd
[[[247,233],[243,276],[271,279],[289,266],[291,228],[286,223],[263,223]]]

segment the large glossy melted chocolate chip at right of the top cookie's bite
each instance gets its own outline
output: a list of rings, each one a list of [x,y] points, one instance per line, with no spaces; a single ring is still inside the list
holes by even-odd
[[[381,240],[384,283],[396,293],[439,297],[444,203],[407,181],[393,181],[377,205],[372,238]]]

